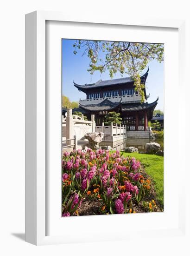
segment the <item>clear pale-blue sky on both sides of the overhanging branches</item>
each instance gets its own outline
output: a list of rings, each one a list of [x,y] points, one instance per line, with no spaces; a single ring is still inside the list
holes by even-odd
[[[90,75],[87,69],[89,68],[89,58],[87,55],[82,56],[82,50],[78,54],[73,54],[73,44],[76,40],[62,40],[62,92],[70,98],[70,101],[79,101],[85,99],[86,94],[79,92],[73,85],[73,81],[78,84],[93,83],[100,79],[110,79],[108,71],[100,73],[95,72]],[[159,97],[156,109],[164,110],[164,63],[151,61],[148,63],[149,74],[146,80],[146,94],[150,93],[148,102],[151,103]],[[148,68],[148,67],[147,67]],[[147,68],[142,72],[144,74]],[[124,75],[125,76],[125,75]],[[127,74],[126,74],[127,76]],[[120,78],[120,73],[114,75],[114,78]]]

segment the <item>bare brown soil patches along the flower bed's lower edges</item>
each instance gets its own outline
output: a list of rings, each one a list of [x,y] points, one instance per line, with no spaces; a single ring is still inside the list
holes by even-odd
[[[151,177],[146,174],[146,172],[143,168],[141,168],[140,172],[144,177],[146,177],[146,179],[149,179],[152,182]],[[153,187],[153,182],[152,182],[152,188],[151,188],[149,195],[144,197],[143,201],[150,202],[152,199],[156,202],[156,205],[157,205],[157,209],[154,209],[154,212],[164,211],[164,209],[161,207],[161,205],[159,204],[159,202],[156,198],[156,192]],[[80,209],[78,209],[78,214],[79,214],[79,216],[101,215],[102,213],[100,211],[100,208],[102,207],[102,205],[103,204],[101,203],[101,199],[92,198],[92,197],[87,196],[86,198],[83,199],[81,207],[80,207]],[[134,211],[136,213],[148,212],[148,210],[143,207],[142,202],[139,202],[139,205],[133,205],[133,207],[134,207]],[[76,214],[74,214],[74,215],[76,215]]]

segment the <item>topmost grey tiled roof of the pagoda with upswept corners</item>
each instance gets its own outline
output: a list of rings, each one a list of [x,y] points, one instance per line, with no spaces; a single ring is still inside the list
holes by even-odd
[[[149,71],[149,68],[146,71],[146,73],[143,74],[140,77],[140,80],[142,82],[146,82],[146,78],[148,76],[148,71]],[[131,77],[123,77],[123,78],[110,79],[110,80],[104,80],[104,81],[99,80],[95,83],[85,84],[85,85],[79,85],[79,84],[77,84],[73,81],[74,86],[76,88],[78,88],[79,90],[92,89],[92,88],[101,88],[101,87],[106,87],[106,86],[110,86],[110,85],[119,85],[119,84],[131,83],[131,82],[133,82],[133,79]]]

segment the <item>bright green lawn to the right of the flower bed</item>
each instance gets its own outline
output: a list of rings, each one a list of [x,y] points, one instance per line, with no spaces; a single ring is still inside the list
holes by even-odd
[[[147,155],[139,153],[124,153],[125,157],[130,155],[139,160],[145,168],[146,173],[154,182],[157,199],[164,206],[164,157],[158,155]]]

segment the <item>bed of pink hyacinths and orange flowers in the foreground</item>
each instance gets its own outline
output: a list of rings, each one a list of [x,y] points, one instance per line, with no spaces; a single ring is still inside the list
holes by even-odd
[[[150,198],[152,183],[141,173],[141,164],[134,157],[119,151],[65,152],[62,161],[62,216],[80,215],[82,201],[99,202],[98,214],[134,213],[138,205],[145,211],[156,211]],[[141,211],[142,212],[142,211]],[[94,213],[95,214],[95,213]],[[96,213],[97,214],[97,213]]]

